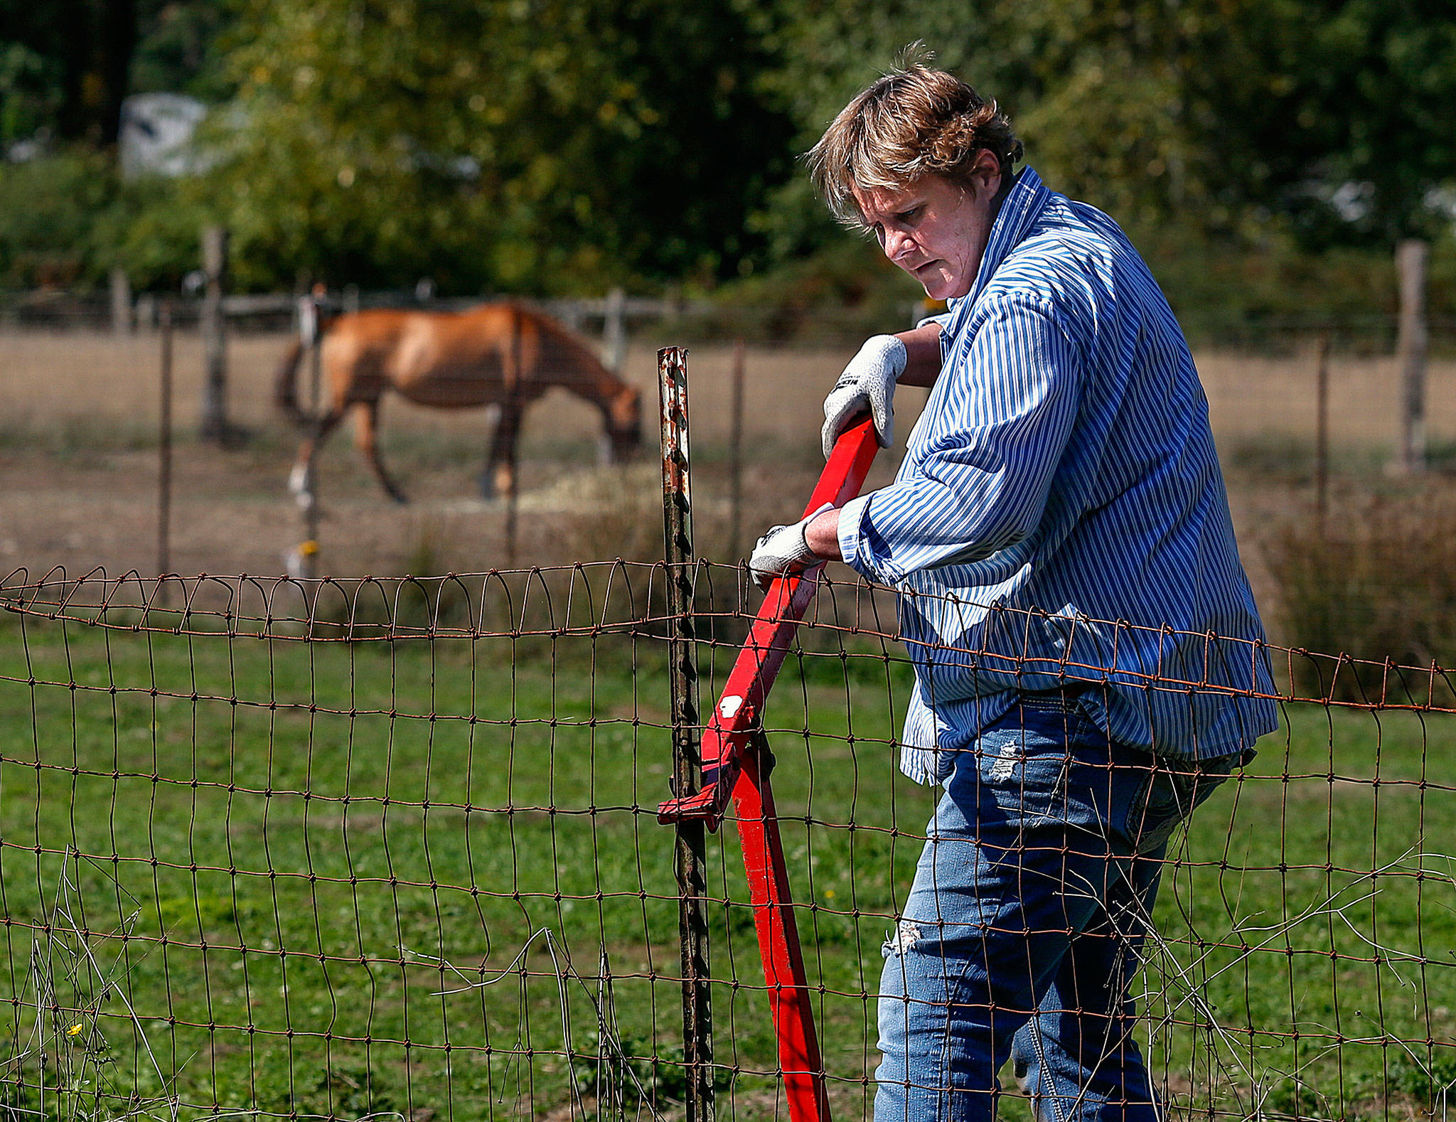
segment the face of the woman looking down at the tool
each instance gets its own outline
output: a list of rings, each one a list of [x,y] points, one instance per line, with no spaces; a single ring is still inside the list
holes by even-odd
[[[974,194],[960,183],[927,175],[904,191],[855,191],[865,223],[895,265],[914,276],[932,300],[965,295],[976,284],[996,215],[992,201],[1000,169],[989,151],[989,169],[977,163]]]

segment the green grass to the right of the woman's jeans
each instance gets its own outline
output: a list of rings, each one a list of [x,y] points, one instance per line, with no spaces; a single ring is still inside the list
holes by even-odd
[[[1428,1102],[1401,1073],[1456,1061],[1453,733],[1440,715],[1290,707],[1245,779],[1195,815],[1159,898],[1188,981],[1150,1011],[1178,1022],[1163,1062],[1192,1059],[1197,1097],[1222,1086],[1248,1110],[1255,1075],[1274,1113]]]

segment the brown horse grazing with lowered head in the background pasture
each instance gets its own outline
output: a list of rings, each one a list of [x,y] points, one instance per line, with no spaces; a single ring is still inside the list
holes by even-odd
[[[357,444],[380,486],[395,502],[405,493],[379,455],[379,403],[393,389],[415,405],[440,409],[499,406],[495,435],[480,474],[480,493],[511,493],[521,413],[552,386],[571,390],[601,410],[601,458],[626,458],[642,442],[641,394],[617,378],[575,335],[523,304],[483,304],[460,313],[380,309],[339,316],[323,329],[328,410],[307,416],[298,407],[296,342],[278,367],[275,399],[298,425],[312,429],[298,448],[288,486],[312,501],[309,464],[351,406]]]

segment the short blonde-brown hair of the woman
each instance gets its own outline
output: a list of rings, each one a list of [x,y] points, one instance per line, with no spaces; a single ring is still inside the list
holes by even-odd
[[[917,45],[909,48],[916,51]],[[907,61],[840,111],[808,153],[814,186],[834,217],[863,227],[853,189],[904,191],[926,175],[970,185],[990,148],[1009,176],[1022,147],[1010,121],[954,74]]]

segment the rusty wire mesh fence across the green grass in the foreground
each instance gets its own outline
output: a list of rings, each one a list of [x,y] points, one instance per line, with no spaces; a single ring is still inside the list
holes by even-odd
[[[667,576],[12,575],[6,1115],[680,1115]],[[693,576],[703,712],[756,597]],[[1450,677],[1270,655],[1280,732],[1158,859],[1133,984],[1153,1083],[1172,1116],[1444,1110]],[[763,715],[839,1116],[869,1113],[938,793],[897,767],[911,681],[888,591],[824,582]],[[732,832],[706,850],[712,1084],[719,1116],[785,1118]]]

